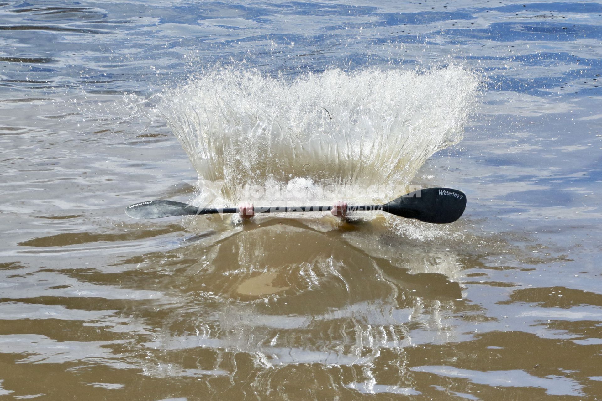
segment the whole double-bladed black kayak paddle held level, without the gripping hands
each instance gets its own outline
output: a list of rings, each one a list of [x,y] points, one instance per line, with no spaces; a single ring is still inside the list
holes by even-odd
[[[350,212],[383,210],[396,216],[417,219],[427,223],[445,224],[460,218],[466,208],[464,192],[450,188],[427,188],[403,195],[385,204],[349,205]],[[271,206],[255,207],[254,213],[283,212],[327,212],[332,206]],[[132,204],[125,213],[135,219],[157,219],[170,216],[212,215],[217,213],[239,213],[238,207],[196,207],[191,204],[153,200]]]

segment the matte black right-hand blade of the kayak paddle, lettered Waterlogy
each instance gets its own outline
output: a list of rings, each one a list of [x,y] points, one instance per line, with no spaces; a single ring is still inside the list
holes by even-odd
[[[437,224],[458,220],[464,209],[466,195],[450,188],[421,189],[382,206],[382,210],[397,216]]]

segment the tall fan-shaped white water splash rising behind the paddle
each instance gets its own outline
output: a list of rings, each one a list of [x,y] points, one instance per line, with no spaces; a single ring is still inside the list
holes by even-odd
[[[388,200],[462,138],[478,85],[461,67],[293,80],[225,68],[167,91],[159,110],[199,180],[219,183],[199,203]]]

